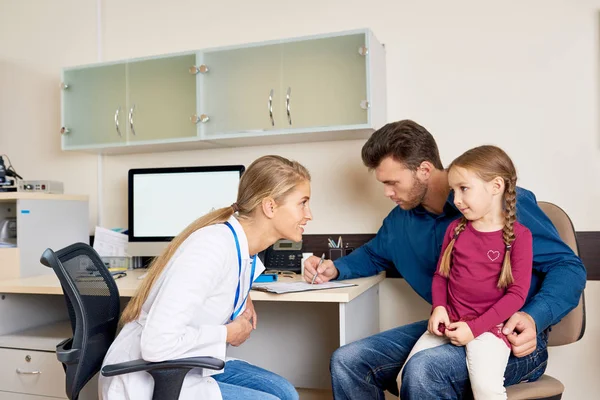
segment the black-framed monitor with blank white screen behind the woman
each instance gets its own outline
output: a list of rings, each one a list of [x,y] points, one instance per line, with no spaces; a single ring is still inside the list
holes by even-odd
[[[169,241],[235,202],[242,165],[129,170],[129,241]]]

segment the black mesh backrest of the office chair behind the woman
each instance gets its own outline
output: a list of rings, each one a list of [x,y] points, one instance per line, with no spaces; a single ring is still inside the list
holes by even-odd
[[[65,368],[67,397],[75,400],[100,370],[115,338],[119,290],[98,253],[85,243],[56,253],[46,249],[40,261],[54,270],[67,302],[73,337],[56,347],[56,356]]]

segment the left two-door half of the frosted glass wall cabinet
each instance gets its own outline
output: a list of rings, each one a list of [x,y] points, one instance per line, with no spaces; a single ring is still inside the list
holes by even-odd
[[[63,149],[195,140],[195,63],[193,53],[65,69]]]

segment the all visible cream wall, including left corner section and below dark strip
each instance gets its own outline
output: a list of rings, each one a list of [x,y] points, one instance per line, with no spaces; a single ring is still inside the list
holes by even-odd
[[[578,230],[600,230],[599,9],[600,0],[102,0],[99,14],[95,0],[0,0],[0,154],[28,179],[61,180],[67,192],[90,195],[92,229],[98,160],[60,151],[61,67],[99,54],[110,61],[369,27],[387,48],[390,121],[426,126],[444,163],[481,143],[504,147],[521,185],[565,208]],[[362,144],[104,157],[103,221],[127,223],[129,168],[248,164],[279,153],[312,171],[315,221],[307,233],[375,232],[392,204],[362,166]],[[406,291],[392,288],[390,298]],[[600,389],[591,376],[599,296],[591,283],[584,341],[552,351],[549,369],[567,384],[566,398]],[[412,298],[395,304],[414,306]],[[403,322],[383,323],[392,321]]]

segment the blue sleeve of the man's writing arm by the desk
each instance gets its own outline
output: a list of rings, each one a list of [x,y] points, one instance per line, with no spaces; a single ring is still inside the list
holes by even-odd
[[[383,225],[373,239],[349,255],[334,261],[333,264],[339,272],[336,279],[377,275],[379,272],[393,266],[389,249],[390,246],[398,245],[391,242],[392,237],[390,236],[393,218],[398,217],[393,215],[394,212],[397,212],[397,210],[392,210],[385,218]]]

